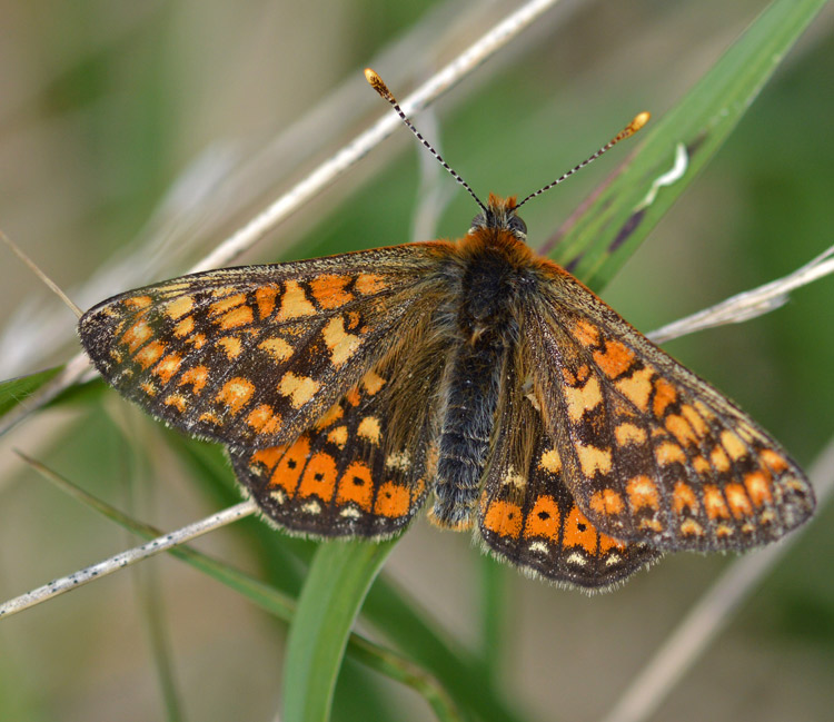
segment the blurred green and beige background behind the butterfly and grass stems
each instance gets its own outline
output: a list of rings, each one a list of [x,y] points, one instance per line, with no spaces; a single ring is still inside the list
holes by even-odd
[[[765,4],[564,1],[417,125],[481,196],[526,195],[635,112],[673,107]],[[0,0],[0,227],[82,307],[175,276],[386,110],[364,66],[404,97],[515,7]],[[832,244],[833,24],[828,8],[605,289],[638,328],[773,280]],[[415,145],[404,129],[242,260],[461,235],[476,209]],[[526,208],[534,246],[620,151]],[[0,377],[67,359],[77,352],[71,314],[0,254]],[[833,329],[828,278],[771,315],[668,348],[807,465],[834,428]],[[0,442],[3,599],[132,544],[26,469],[12,446],[166,528],[236,497],[230,472],[225,487],[208,487],[180,444],[111,392],[40,414]],[[830,715],[833,517],[820,510],[653,719]],[[198,546],[265,577],[292,564],[262,553],[259,523],[239,527]],[[492,672],[508,706],[519,719],[600,716],[729,561],[677,555],[590,599],[499,572],[507,619]],[[481,643],[483,563],[468,537],[419,521],[385,574],[449,636]],[[163,719],[149,605],[161,609],[186,719],[272,718],[282,626],[159,558],[0,624],[0,719]],[[335,719],[431,715],[413,693],[348,664]]]

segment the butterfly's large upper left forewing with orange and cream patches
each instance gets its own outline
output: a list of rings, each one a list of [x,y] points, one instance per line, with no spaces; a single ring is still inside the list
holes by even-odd
[[[183,276],[99,304],[79,335],[112,386],[170,425],[286,444],[373,367],[395,326],[418,324],[438,245]]]

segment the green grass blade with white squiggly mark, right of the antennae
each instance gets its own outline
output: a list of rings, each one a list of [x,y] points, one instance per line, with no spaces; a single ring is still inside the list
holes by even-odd
[[[775,0],[543,249],[603,287],[695,179],[826,0]],[[558,241],[558,246],[555,246]]]

